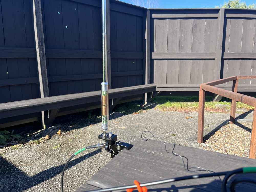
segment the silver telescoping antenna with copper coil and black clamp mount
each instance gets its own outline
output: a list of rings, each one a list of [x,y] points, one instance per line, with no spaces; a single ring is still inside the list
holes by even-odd
[[[106,0],[102,0],[102,67],[103,67],[103,82],[101,83],[101,128],[102,134],[99,139],[103,142],[101,147],[105,148],[113,158],[121,150],[129,150],[132,145],[124,142],[116,142],[117,135],[108,133],[109,127],[109,84],[108,84],[108,68],[107,68],[107,42],[106,38]]]

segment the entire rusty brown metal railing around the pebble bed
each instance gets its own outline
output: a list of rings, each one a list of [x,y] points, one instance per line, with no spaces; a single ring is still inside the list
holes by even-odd
[[[223,97],[232,99],[229,124],[235,123],[237,101],[254,107],[249,158],[256,159],[256,98],[237,93],[237,85],[239,79],[256,79],[256,76],[233,76],[200,84],[197,142],[204,142],[205,91],[209,91]],[[229,81],[233,81],[232,91],[214,87],[215,85],[226,83]]]

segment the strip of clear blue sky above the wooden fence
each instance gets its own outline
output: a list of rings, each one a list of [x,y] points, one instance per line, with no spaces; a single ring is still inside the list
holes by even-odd
[[[123,1],[125,3],[128,3],[129,0],[119,0]],[[209,1],[209,0],[160,0],[161,1],[161,7],[160,8],[213,8],[215,6],[220,6],[220,4],[223,4],[225,0],[216,0],[216,1]],[[228,0],[226,0],[228,2]],[[241,1],[244,2],[244,1]],[[255,4],[256,0],[247,0],[245,1],[247,5],[249,4]]]

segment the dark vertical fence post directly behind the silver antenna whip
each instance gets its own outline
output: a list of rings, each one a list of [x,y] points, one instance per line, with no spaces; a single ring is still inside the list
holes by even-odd
[[[106,62],[107,62],[107,72],[108,72],[108,83],[109,89],[111,89],[111,53],[110,53],[110,2],[106,0]]]

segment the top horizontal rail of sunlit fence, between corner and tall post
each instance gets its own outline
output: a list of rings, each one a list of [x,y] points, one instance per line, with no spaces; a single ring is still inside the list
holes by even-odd
[[[189,18],[189,17],[218,17],[216,13],[199,13],[199,14],[152,14],[152,18]]]

